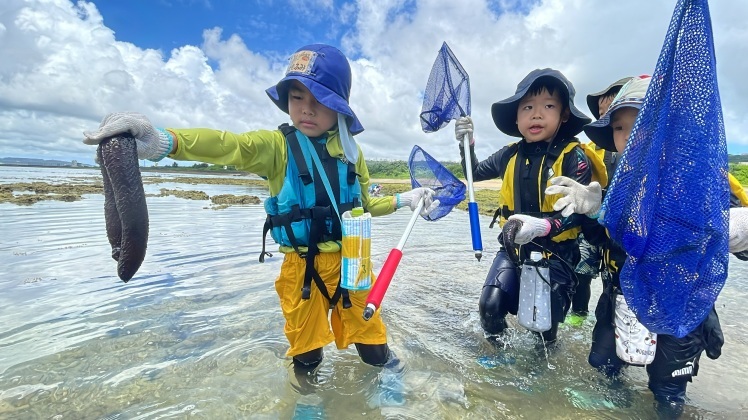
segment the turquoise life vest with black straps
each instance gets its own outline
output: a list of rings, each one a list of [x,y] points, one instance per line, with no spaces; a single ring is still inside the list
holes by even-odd
[[[302,256],[300,247],[316,248],[317,243],[342,239],[340,219],[331,205],[311,153],[316,152],[322,162],[340,213],[361,206],[361,185],[355,165],[330,156],[325,146],[326,139],[308,139],[288,124],[279,129],[286,136],[286,176],[278,195],[265,200],[268,217],[260,261],[266,254],[264,244],[268,230],[276,243],[294,247]],[[310,168],[314,170],[310,171]]]

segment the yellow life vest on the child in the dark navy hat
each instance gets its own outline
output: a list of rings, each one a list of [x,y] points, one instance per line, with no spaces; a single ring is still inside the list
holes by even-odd
[[[543,202],[540,206],[540,215],[531,214],[522,212],[525,214],[530,214],[533,216],[551,216],[554,213],[553,210],[553,204],[556,203],[556,200],[561,198],[561,195],[559,194],[553,194],[553,195],[546,195],[543,193],[545,189],[550,186],[550,179],[554,176],[560,176],[561,170],[564,162],[564,156],[572,152],[574,150],[574,147],[579,146],[579,140],[572,139],[570,140],[564,147],[563,150],[558,154],[558,157],[556,157],[555,161],[550,167],[548,179],[546,180],[545,185],[541,185],[542,182],[542,176],[541,174],[538,174],[538,197],[543,197]],[[510,147],[517,146],[516,150],[519,151],[519,144],[515,143],[510,145]],[[585,151],[585,155],[587,155],[588,158],[590,158],[590,154],[595,155],[596,159],[590,159],[590,163],[592,165],[592,173],[593,173],[593,180],[600,182],[601,185],[607,185],[608,183],[608,176],[605,171],[605,164],[603,163],[602,159],[600,159],[599,156],[595,154],[593,150],[589,150],[589,153]],[[549,158],[549,154],[546,154],[543,156],[543,161],[540,164],[541,171],[548,171],[547,169],[547,162],[546,159]],[[552,156],[551,156],[552,158]],[[506,223],[507,218],[514,214],[514,210],[516,208],[514,204],[514,187],[515,187],[515,180],[514,180],[514,173],[515,173],[515,166],[517,161],[517,152],[514,153],[514,155],[509,159],[509,162],[507,163],[506,169],[504,170],[504,176],[502,177],[501,182],[501,191],[499,192],[500,197],[500,203],[499,203],[499,210],[496,211],[496,213],[501,215],[501,218],[499,220],[499,226],[504,226],[504,223]],[[597,178],[596,178],[597,177]],[[603,182],[605,184],[603,184]],[[498,215],[497,214],[497,215]],[[564,232],[559,233],[558,235],[551,238],[553,242],[562,242],[569,239],[575,239],[579,232],[581,231],[581,228],[574,227],[569,230],[566,230]]]

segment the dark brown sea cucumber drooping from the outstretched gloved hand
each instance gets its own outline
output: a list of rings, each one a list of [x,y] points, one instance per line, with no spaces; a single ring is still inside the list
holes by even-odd
[[[148,245],[148,207],[135,139],[122,134],[96,149],[104,177],[104,218],[117,275],[125,283],[140,268]]]

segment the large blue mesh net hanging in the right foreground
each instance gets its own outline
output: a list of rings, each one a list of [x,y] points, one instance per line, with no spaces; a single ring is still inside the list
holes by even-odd
[[[706,0],[679,0],[602,208],[621,287],[650,330],[683,337],[727,278],[727,146]]]

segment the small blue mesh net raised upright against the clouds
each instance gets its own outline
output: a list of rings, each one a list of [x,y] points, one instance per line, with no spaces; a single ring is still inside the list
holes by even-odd
[[[423,93],[421,127],[433,133],[449,121],[470,115],[470,79],[445,42]]]

